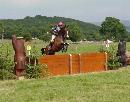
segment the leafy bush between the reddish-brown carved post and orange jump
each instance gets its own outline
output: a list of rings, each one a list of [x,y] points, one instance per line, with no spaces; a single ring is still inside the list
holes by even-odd
[[[25,75],[26,78],[43,78],[49,75],[47,66],[38,63],[38,57],[36,47],[33,46],[31,55],[28,56],[28,64],[26,66]]]

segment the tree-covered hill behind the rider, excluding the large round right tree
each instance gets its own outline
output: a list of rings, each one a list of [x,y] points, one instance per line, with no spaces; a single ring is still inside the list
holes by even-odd
[[[99,31],[99,27],[94,24],[56,16],[46,17],[36,15],[35,17],[27,16],[24,19],[17,20],[0,20],[0,22],[5,25],[5,38],[11,38],[12,34],[16,34],[17,36],[25,36],[26,34],[29,35],[29,37],[37,37],[44,41],[47,41],[50,37],[50,34],[47,34],[47,32],[49,32],[51,30],[51,27],[59,21],[63,21],[66,25],[70,26],[72,25],[72,23],[75,23],[75,27],[71,26],[71,29],[69,30],[71,32],[75,32],[75,30],[77,29],[78,31],[80,31],[80,36],[82,38],[87,38],[87,36],[89,37],[89,34],[94,35]]]

